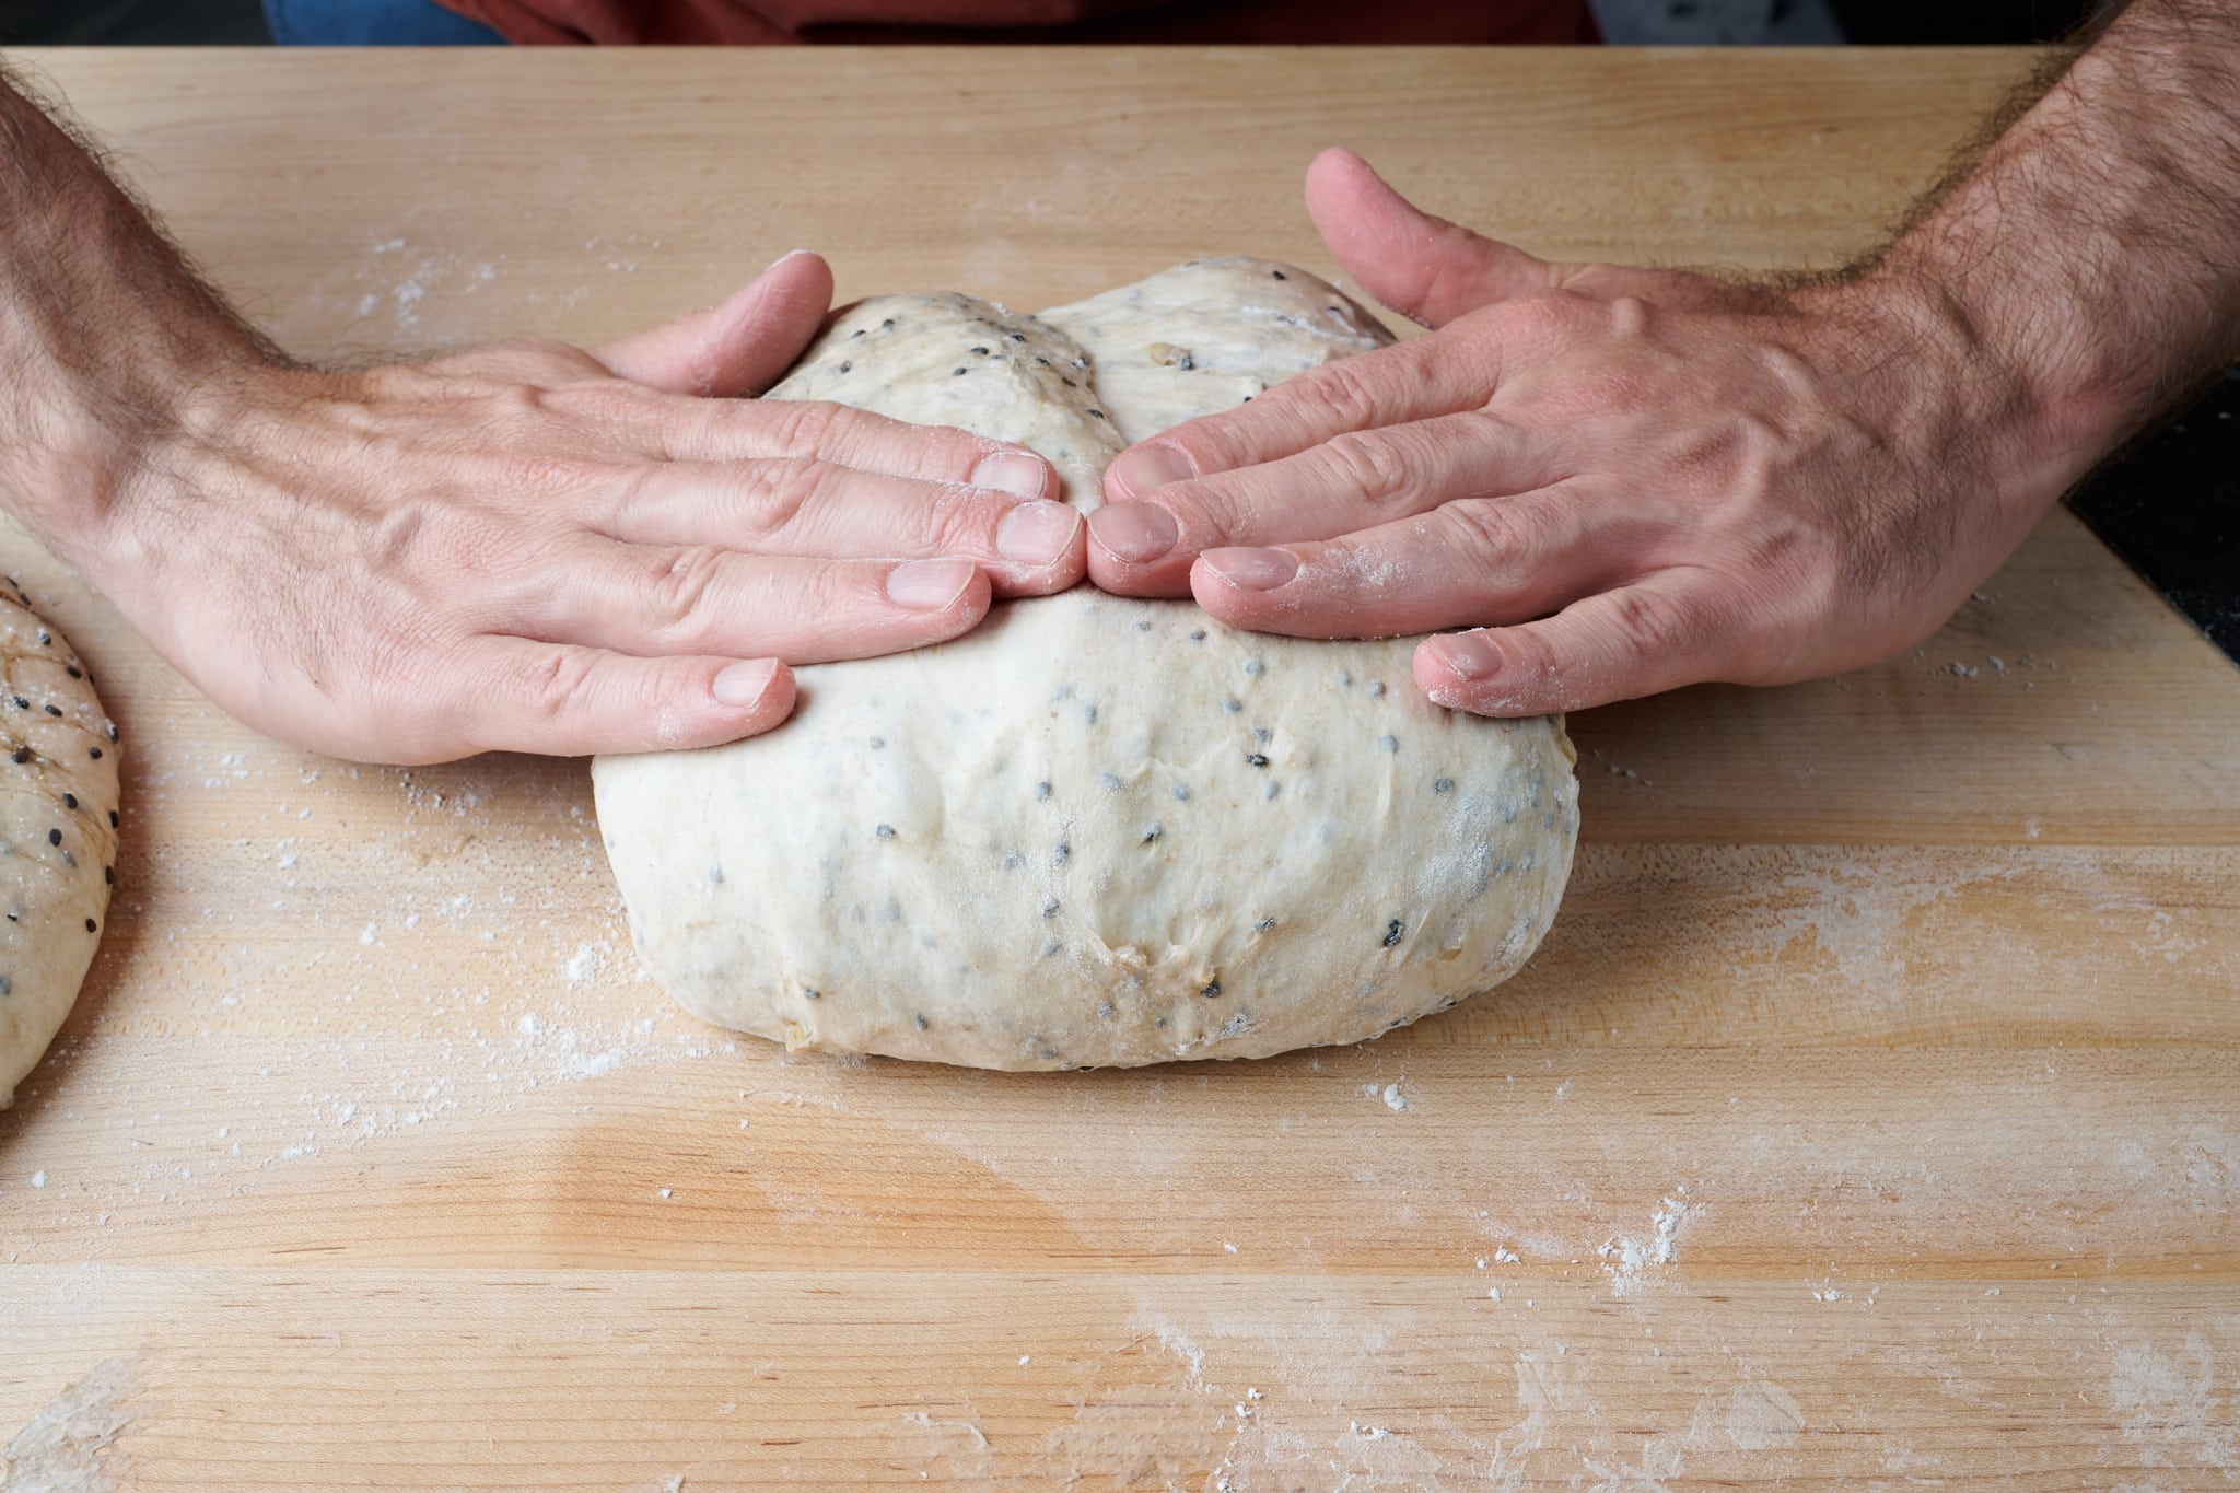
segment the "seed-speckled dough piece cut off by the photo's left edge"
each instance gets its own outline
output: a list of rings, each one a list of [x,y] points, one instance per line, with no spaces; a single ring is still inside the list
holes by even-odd
[[[69,645],[0,595],[0,1108],[63,1027],[116,880],[116,727]]]

